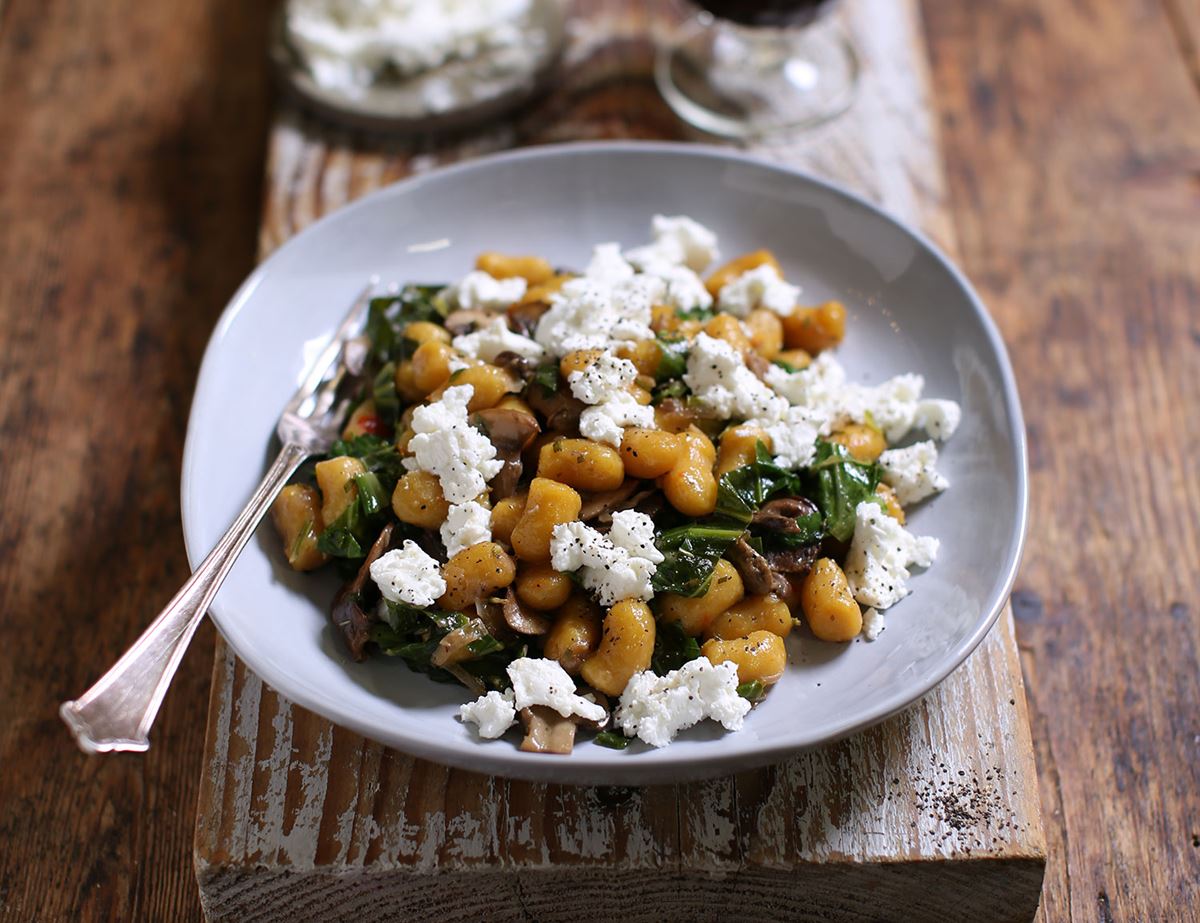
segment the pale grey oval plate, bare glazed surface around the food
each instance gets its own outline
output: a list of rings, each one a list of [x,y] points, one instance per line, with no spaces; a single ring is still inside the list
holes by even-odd
[[[874,643],[790,642],[792,665],[745,730],[712,723],[671,747],[581,743],[570,756],[481,742],[455,718],[467,693],[398,661],[355,664],[326,618],[332,577],[293,574],[264,525],[212,606],[226,640],[292,701],[397,749],[480,772],[564,783],[654,784],[779,760],[865,727],[919,699],[995,622],[1020,557],[1026,457],[1012,370],[966,280],[934,246],[827,182],[697,145],[536,148],[380,190],[296,235],[226,310],[200,370],[184,457],[184,532],[193,565],[258,481],[280,408],[371,275],[462,276],[482,250],[580,266],[598,241],[648,238],[655,212],[691,215],[734,256],[772,248],[803,299],[848,308],[839,349],[851,376],[925,376],[929,396],[962,404],[942,468],[952,487],[916,509],[936,565],[888,610]]]

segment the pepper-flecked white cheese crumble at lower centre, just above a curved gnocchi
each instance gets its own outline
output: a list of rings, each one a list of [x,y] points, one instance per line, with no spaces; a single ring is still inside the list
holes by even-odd
[[[654,545],[654,521],[636,510],[612,514],[607,535],[582,522],[559,523],[550,555],[560,574],[580,570],[583,586],[604,606],[630,598],[652,599],[650,580],[662,563],[662,552]]]

